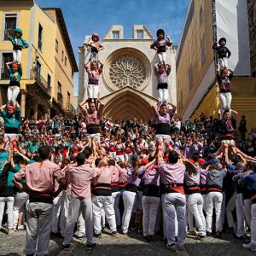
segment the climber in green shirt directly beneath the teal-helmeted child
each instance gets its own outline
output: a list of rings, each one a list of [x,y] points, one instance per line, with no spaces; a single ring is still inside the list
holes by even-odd
[[[11,68],[9,65],[12,65]],[[21,64],[7,62],[6,68],[9,72],[9,86],[7,90],[7,105],[12,105],[15,107],[17,96],[20,92],[20,79],[22,76]]]

